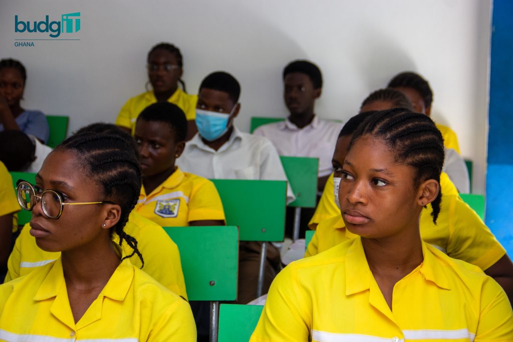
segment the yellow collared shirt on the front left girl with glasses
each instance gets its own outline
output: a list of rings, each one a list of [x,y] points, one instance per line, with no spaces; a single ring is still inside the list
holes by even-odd
[[[75,323],[61,258],[0,285],[0,340],[195,341],[189,304],[125,259]]]

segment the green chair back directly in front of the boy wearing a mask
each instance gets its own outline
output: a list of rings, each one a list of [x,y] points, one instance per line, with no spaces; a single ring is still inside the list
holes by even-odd
[[[211,180],[223,202],[226,224],[239,227],[241,241],[283,241],[285,180]]]

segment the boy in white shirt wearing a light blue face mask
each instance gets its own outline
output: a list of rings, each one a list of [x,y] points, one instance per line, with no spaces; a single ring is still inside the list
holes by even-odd
[[[239,82],[226,72],[205,77],[196,105],[198,133],[186,144],[176,164],[185,172],[205,178],[287,180],[272,143],[265,137],[243,133],[233,125],[241,109],[240,92]],[[288,187],[287,202],[293,199]],[[246,304],[257,297],[255,284],[261,247],[258,243],[240,246],[238,303]],[[267,260],[264,292],[280,264],[277,248],[269,245]]]

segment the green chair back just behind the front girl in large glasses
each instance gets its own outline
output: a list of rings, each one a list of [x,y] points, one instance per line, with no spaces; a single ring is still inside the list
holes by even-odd
[[[164,227],[178,246],[189,300],[235,300],[239,231],[233,226]]]

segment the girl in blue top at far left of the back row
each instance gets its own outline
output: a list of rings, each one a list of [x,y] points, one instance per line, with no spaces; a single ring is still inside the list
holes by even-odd
[[[46,144],[50,128],[45,114],[21,107],[27,71],[12,58],[0,61],[0,131],[15,130],[30,134]]]

